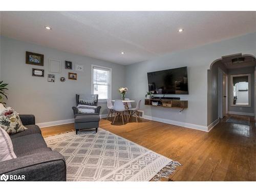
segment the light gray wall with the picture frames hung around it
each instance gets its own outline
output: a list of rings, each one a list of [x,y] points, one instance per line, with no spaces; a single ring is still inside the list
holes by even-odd
[[[44,54],[44,67],[27,65],[26,51]],[[61,60],[61,74],[50,73],[55,74],[54,83],[47,81],[49,58]],[[65,60],[84,66],[84,72],[77,72],[78,80],[68,79],[68,73],[75,71],[65,69]],[[1,62],[1,78],[9,83],[7,105],[18,113],[34,114],[37,123],[73,118],[71,108],[75,106],[75,94],[91,93],[92,64],[112,68],[112,98],[120,98],[118,88],[125,86],[124,66],[3,36]],[[33,77],[32,68],[44,69],[45,77]],[[66,78],[65,82],[59,81],[62,76]],[[99,105],[102,106],[101,114],[106,114],[106,103]]]

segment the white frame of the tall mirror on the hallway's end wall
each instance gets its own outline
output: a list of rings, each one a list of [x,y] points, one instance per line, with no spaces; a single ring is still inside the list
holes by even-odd
[[[233,77],[248,76],[248,105],[233,104]],[[251,107],[251,74],[230,75],[230,106]]]

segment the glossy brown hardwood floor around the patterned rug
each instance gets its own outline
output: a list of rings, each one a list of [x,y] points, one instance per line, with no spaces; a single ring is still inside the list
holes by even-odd
[[[138,143],[175,161],[179,166],[170,176],[174,181],[256,181],[256,129],[221,122],[209,133],[140,119],[113,125],[100,120],[100,127]],[[65,124],[41,129],[44,137],[74,131]]]

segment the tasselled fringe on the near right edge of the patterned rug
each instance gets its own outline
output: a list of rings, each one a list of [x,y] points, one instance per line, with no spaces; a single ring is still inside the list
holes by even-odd
[[[151,181],[160,181],[161,178],[167,178],[170,174],[174,173],[177,166],[181,166],[178,161],[171,161],[165,167],[163,167],[160,172],[152,178]]]

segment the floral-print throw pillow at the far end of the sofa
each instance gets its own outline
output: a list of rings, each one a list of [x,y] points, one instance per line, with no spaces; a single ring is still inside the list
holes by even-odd
[[[9,106],[0,114],[0,126],[2,126],[9,135],[27,130],[27,128],[23,126],[17,112]]]

